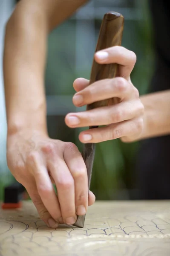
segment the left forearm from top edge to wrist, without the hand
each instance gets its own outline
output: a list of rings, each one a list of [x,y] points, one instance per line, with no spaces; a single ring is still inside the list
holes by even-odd
[[[8,134],[46,133],[44,67],[48,33],[86,0],[21,0],[6,26],[4,82]]]

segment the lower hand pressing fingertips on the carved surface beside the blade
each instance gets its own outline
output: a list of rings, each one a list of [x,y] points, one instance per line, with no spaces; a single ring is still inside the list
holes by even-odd
[[[49,227],[74,224],[76,214],[84,215],[95,201],[92,192],[88,198],[86,166],[73,143],[52,140],[39,131],[18,132],[8,136],[7,162]]]

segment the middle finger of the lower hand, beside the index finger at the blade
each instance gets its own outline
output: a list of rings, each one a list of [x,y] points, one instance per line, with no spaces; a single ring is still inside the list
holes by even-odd
[[[55,180],[63,221],[72,225],[76,221],[74,179],[63,156],[56,154],[55,150],[51,151],[47,165]]]

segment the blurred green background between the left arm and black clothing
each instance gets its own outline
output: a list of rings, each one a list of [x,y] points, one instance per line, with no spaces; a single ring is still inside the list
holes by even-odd
[[[109,11],[124,15],[122,46],[137,55],[131,80],[141,95],[147,92],[153,72],[152,28],[147,0],[89,1],[52,31],[48,38],[45,77],[49,136],[71,141],[81,151],[83,145],[78,140],[81,129],[66,127],[64,117],[69,112],[80,111],[72,104],[75,93],[72,84],[78,77],[89,79],[101,21]],[[96,199],[138,198],[134,171],[137,150],[138,143],[126,144],[120,140],[96,145],[91,183]],[[1,198],[4,181],[9,182],[10,179],[11,176],[8,175],[8,179],[3,179],[0,183]]]

